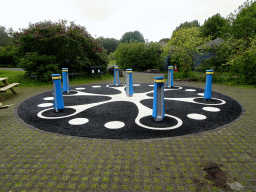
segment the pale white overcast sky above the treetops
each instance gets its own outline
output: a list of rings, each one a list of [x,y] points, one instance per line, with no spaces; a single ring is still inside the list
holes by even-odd
[[[140,31],[148,41],[170,38],[181,23],[213,15],[226,18],[246,0],[6,0],[1,2],[0,25],[28,28],[29,22],[66,19],[86,27],[94,37],[120,39]]]

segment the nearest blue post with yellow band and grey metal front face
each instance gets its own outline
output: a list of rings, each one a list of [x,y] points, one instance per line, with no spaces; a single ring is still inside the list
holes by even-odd
[[[163,121],[165,116],[164,110],[164,77],[154,78],[154,99],[153,113],[155,121]]]

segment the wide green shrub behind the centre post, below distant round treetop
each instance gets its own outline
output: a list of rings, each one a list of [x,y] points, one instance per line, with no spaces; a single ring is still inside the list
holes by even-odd
[[[143,42],[121,43],[116,50],[116,64],[122,69],[145,71],[147,69],[160,69],[164,59],[159,54],[161,45],[158,43]]]

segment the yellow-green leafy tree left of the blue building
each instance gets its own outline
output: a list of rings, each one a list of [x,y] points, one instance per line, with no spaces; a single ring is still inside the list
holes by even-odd
[[[172,57],[179,58],[184,76],[188,77],[192,69],[194,53],[200,54],[196,47],[211,41],[211,38],[212,36],[202,37],[198,27],[182,28],[173,32],[171,40],[163,48],[163,56],[166,57],[172,53]]]

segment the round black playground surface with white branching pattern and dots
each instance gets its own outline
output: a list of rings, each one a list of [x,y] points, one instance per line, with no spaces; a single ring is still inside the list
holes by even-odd
[[[71,87],[63,93],[64,109],[53,108],[53,92],[25,100],[19,117],[38,129],[64,135],[102,139],[150,139],[175,137],[216,129],[237,119],[242,107],[234,99],[212,92],[204,100],[204,89],[164,86],[165,117],[152,117],[154,84],[95,84]]]

